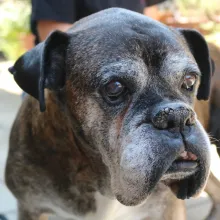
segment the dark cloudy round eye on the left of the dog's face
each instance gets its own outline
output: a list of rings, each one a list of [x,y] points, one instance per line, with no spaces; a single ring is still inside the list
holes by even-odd
[[[105,96],[114,103],[121,101],[126,91],[126,87],[119,81],[111,81],[104,88]]]

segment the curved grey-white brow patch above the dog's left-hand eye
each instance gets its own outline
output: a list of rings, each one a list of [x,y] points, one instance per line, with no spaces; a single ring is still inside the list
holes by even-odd
[[[100,69],[99,75],[103,80],[111,76],[119,76],[135,81],[138,89],[144,89],[148,81],[148,70],[142,59],[121,59]]]

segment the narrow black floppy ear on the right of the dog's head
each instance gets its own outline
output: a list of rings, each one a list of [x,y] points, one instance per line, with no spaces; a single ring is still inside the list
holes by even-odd
[[[214,73],[214,62],[209,56],[208,45],[198,31],[181,28],[178,30],[184,36],[202,74],[197,99],[207,100],[210,94],[211,76]]]

